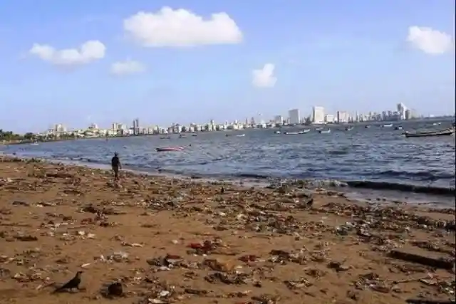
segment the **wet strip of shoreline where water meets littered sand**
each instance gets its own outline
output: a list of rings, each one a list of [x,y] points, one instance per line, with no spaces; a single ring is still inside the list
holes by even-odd
[[[15,154],[4,154],[8,157],[17,157]],[[0,152],[1,156],[1,152]],[[83,159],[48,159],[42,157],[24,157],[24,159],[41,159],[45,162],[70,164],[73,166],[89,167],[94,169],[110,170],[109,164],[90,162]],[[149,174],[157,177],[195,179],[202,182],[229,182],[232,184],[244,184],[248,187],[306,187],[308,189],[329,189],[333,192],[346,194],[350,199],[358,201],[380,201],[385,204],[400,204],[409,201],[412,204],[428,204],[436,207],[447,208],[455,205],[456,189],[452,187],[425,187],[413,184],[394,184],[391,182],[371,181],[338,181],[336,179],[278,179],[257,175],[237,176],[211,176],[209,174],[181,174],[165,169],[150,169],[134,166],[123,166],[125,170],[139,174]]]

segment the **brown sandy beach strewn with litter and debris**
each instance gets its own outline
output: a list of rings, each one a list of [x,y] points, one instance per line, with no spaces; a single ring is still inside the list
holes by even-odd
[[[0,156],[0,303],[454,299],[455,210],[382,204]]]

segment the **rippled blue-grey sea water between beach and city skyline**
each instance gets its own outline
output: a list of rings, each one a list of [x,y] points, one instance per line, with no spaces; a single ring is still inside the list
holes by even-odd
[[[442,120],[440,120],[442,121]],[[199,133],[197,137],[160,140],[157,136],[47,142],[0,148],[24,157],[109,164],[115,151],[125,167],[142,171],[240,177],[245,179],[336,179],[357,187],[454,194],[455,137],[405,138],[405,130],[444,129],[426,122],[402,122],[403,130],[357,125],[351,131],[315,127],[304,135],[276,135],[274,130]],[[309,127],[287,129],[296,131]],[[285,131],[285,130],[282,130]],[[225,136],[241,134],[244,137]],[[191,144],[191,146],[190,146]],[[182,152],[155,152],[157,147],[185,146]],[[354,186],[354,184],[353,184]],[[420,189],[414,188],[420,187]],[[437,189],[437,190],[436,190]],[[441,191],[442,189],[447,189]],[[442,192],[442,193],[440,193]]]

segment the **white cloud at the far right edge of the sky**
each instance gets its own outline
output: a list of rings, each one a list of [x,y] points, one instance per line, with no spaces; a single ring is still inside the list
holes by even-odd
[[[424,26],[410,26],[407,41],[420,51],[431,55],[447,53],[455,46],[450,34]]]

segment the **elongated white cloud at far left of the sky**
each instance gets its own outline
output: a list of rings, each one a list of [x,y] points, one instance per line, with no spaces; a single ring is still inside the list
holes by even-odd
[[[106,47],[98,40],[86,41],[79,48],[57,50],[47,44],[34,43],[29,53],[55,65],[83,65],[105,57]]]

